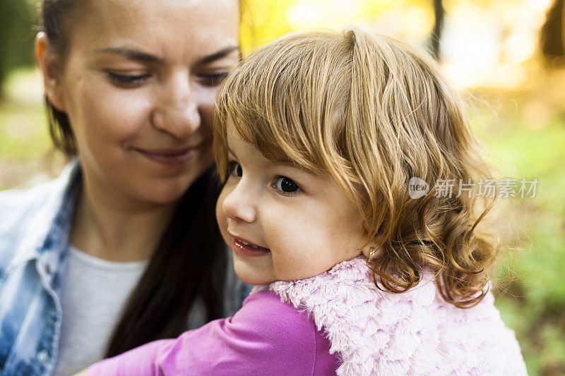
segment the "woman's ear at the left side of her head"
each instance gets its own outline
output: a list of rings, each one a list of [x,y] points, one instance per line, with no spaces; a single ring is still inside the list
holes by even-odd
[[[49,47],[49,40],[45,32],[38,32],[35,36],[35,59],[43,75],[45,95],[49,102],[59,111],[65,111],[59,75],[59,56]]]

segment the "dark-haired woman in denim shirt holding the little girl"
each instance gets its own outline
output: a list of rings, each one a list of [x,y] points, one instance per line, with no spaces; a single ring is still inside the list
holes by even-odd
[[[4,375],[68,375],[244,295],[226,281],[210,132],[239,1],[44,0],[42,20],[52,138],[77,158],[0,194]]]

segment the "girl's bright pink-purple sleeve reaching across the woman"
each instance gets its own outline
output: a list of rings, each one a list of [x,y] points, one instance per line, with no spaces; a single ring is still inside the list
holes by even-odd
[[[328,358],[329,348],[316,344],[317,336],[305,313],[270,291],[258,291],[233,317],[102,360],[88,376],[312,375],[321,365],[316,357]]]

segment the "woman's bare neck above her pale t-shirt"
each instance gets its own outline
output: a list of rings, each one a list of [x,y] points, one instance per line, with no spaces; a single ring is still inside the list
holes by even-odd
[[[146,260],[160,241],[177,202],[159,205],[99,189],[83,180],[69,243],[105,260]]]

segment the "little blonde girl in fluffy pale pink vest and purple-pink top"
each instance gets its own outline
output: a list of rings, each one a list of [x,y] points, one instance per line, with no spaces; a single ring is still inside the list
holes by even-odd
[[[524,375],[485,268],[477,198],[436,182],[488,171],[462,99],[424,54],[357,29],[290,35],[218,94],[217,217],[233,317],[88,375]],[[420,178],[429,193],[411,198]]]

